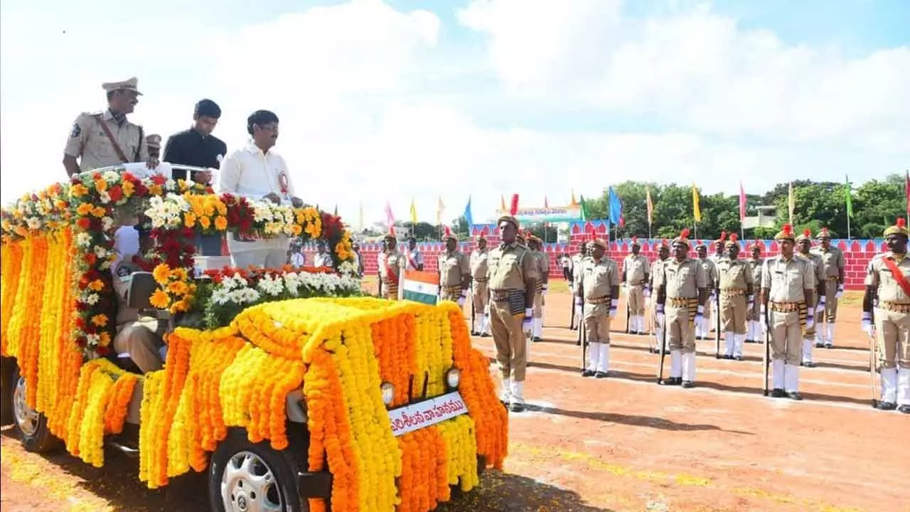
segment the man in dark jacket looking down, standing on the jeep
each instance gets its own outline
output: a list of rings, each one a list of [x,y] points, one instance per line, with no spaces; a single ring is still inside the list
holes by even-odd
[[[218,169],[218,157],[227,155],[227,145],[212,135],[220,117],[221,108],[217,103],[211,99],[199,101],[193,111],[193,127],[167,139],[162,160],[172,164]],[[186,174],[184,170],[174,170],[175,179],[186,179]],[[208,183],[212,177],[208,172],[193,172],[190,178]]]

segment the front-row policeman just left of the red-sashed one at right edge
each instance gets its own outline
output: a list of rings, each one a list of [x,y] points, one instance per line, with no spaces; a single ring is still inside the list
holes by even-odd
[[[815,323],[815,282],[812,263],[794,254],[793,228],[774,236],[781,253],[764,261],[762,269],[762,317],[768,319],[771,332],[771,370],[774,398],[789,396],[802,400],[799,394],[799,364],[803,358],[803,333]],[[765,316],[767,312],[767,316]]]

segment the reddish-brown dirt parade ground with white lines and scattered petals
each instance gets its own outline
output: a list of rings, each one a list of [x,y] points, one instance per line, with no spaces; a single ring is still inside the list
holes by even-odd
[[[835,348],[815,349],[817,367],[802,369],[802,402],[763,397],[757,343],[736,362],[715,359],[713,340],[698,342],[694,389],[655,384],[659,356],[646,336],[624,333],[623,311],[612,324],[610,377],[582,378],[565,283],[552,282],[546,301],[544,340],[531,346],[529,410],[511,414],[505,471],[440,510],[910,510],[910,418],[870,406],[859,292],[842,299]],[[492,359],[492,338],[474,344]],[[3,510],[207,510],[204,475],[153,491],[136,479],[135,459],[106,457],[96,469],[64,450],[29,454],[5,430]]]

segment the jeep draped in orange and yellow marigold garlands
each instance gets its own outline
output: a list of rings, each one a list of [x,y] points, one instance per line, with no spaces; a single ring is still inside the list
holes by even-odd
[[[161,370],[112,351],[114,233],[140,215],[128,307]],[[325,241],[334,271],[200,272],[197,234]],[[363,296],[349,233],[304,206],[99,169],[2,211],[2,413],[25,449],[105,445],[150,488],[207,472],[212,510],[430,510],[501,468],[508,417],[458,306]]]

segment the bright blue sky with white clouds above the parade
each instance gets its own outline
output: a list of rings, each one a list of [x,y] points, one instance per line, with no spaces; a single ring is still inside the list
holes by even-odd
[[[66,134],[136,76],[132,119],[270,108],[304,199],[368,221],[495,214],[624,179],[735,193],[910,167],[910,2],[0,2],[4,202],[63,178]],[[14,170],[15,169],[15,170]],[[18,169],[28,169],[27,172]]]

